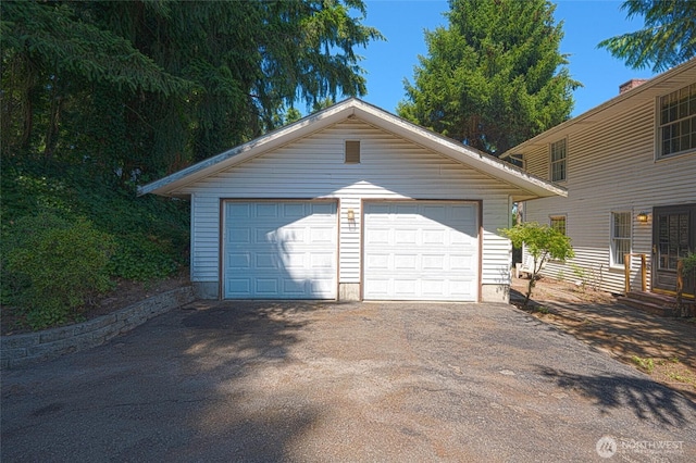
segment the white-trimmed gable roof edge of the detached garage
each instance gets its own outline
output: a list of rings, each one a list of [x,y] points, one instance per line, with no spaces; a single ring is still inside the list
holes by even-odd
[[[518,189],[518,192],[513,196],[515,200],[568,195],[564,188],[530,175],[495,157],[427,130],[362,100],[350,98],[159,180],[140,186],[138,187],[138,196],[147,193],[169,197],[182,196],[178,191],[184,186],[231,168],[251,158],[307,137],[347,118],[359,118],[515,187]]]

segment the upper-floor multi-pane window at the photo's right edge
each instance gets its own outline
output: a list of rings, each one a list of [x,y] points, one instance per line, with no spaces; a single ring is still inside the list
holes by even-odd
[[[658,158],[696,149],[696,84],[660,98]]]

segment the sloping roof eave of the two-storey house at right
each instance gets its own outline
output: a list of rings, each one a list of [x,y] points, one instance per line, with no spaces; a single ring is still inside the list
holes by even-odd
[[[500,155],[500,159],[520,154],[533,147],[544,146],[549,142],[549,138],[555,140],[567,135],[591,129],[593,125],[604,124],[613,118],[617,114],[627,111],[638,104],[655,102],[657,98],[674,91],[679,88],[696,83],[696,58],[672,67],[664,73],[655,76],[637,87],[632,88],[617,97],[585,111],[581,115],[568,120],[548,130],[530,138],[522,143],[512,147]],[[618,87],[617,87],[618,88]]]

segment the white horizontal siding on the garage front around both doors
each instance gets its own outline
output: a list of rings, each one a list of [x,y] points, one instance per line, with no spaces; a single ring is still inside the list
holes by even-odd
[[[344,163],[344,140],[361,140],[360,164]],[[191,237],[191,278],[216,281],[220,200],[224,198],[338,198],[339,281],[360,281],[363,199],[483,200],[484,284],[499,284],[509,272],[508,226],[511,187],[436,152],[360,121],[346,121],[234,168],[188,186],[196,225]],[[347,212],[352,209],[355,223]]]

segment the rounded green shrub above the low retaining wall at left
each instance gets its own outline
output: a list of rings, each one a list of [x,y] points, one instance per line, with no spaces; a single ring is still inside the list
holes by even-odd
[[[41,212],[17,220],[3,235],[4,300],[34,329],[66,322],[88,297],[111,286],[113,239],[85,218]]]

